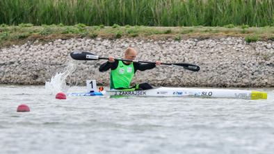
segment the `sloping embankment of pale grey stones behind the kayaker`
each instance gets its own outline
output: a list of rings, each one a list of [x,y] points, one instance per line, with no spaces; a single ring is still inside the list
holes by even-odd
[[[201,68],[193,72],[161,65],[137,71],[133,83],[175,87],[274,87],[274,42],[247,43],[241,37],[181,41],[83,38],[47,44],[27,42],[0,49],[0,84],[41,85],[56,73],[75,67],[67,76],[67,83],[83,85],[86,79],[96,79],[97,83],[108,85],[109,71],[98,71],[105,60],[76,61],[70,58],[70,53],[83,50],[122,58],[128,46],[138,49],[138,60],[188,62]]]

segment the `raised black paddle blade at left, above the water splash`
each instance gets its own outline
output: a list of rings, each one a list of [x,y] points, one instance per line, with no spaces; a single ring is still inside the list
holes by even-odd
[[[99,60],[98,55],[86,51],[73,51],[70,56],[74,60]]]

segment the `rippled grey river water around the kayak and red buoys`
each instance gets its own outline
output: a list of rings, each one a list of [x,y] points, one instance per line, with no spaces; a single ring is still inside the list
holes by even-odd
[[[45,86],[0,85],[0,153],[273,153],[274,90],[264,90],[267,100],[58,100]],[[22,103],[31,112],[16,112]]]

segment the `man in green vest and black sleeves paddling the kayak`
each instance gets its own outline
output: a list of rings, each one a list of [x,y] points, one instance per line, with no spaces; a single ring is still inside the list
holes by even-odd
[[[124,59],[135,60],[138,52],[134,48],[127,48],[124,51]],[[115,60],[113,56],[108,56],[108,61],[99,67],[99,71],[104,72],[111,69],[111,89],[152,89],[152,86],[148,83],[136,84],[130,87],[130,83],[137,70],[145,71],[147,69],[153,69],[156,65],[161,65],[159,60],[156,64],[141,64],[140,62],[124,62],[122,60]]]

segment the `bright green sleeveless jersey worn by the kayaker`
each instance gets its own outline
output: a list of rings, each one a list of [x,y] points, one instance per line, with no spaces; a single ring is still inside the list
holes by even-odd
[[[134,77],[134,64],[124,65],[119,60],[118,67],[111,70],[111,89],[116,88],[129,88],[132,78]]]

